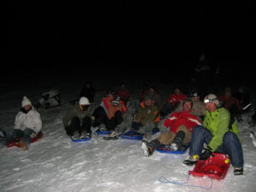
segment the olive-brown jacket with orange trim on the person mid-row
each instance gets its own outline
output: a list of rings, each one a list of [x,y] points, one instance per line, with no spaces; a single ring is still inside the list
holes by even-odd
[[[158,125],[160,122],[159,111],[157,106],[145,106],[144,102],[142,102],[140,108],[136,111],[134,120],[142,125],[146,125],[148,121],[152,121],[154,125]]]

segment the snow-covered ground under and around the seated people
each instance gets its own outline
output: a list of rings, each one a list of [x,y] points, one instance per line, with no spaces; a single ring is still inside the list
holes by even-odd
[[[32,77],[34,78],[34,77]],[[137,98],[143,81],[131,84],[130,77],[122,77]],[[139,141],[119,139],[104,141],[93,135],[87,143],[73,143],[67,137],[62,126],[62,117],[69,107],[67,101],[73,99],[80,87],[88,79],[70,78],[56,80],[26,80],[24,84],[9,82],[1,84],[5,90],[0,96],[0,125],[6,131],[13,128],[15,114],[20,109],[22,96],[28,96],[32,102],[45,90],[55,87],[61,90],[63,106],[49,111],[42,110],[44,137],[38,143],[32,143],[29,151],[20,148],[0,149],[0,191],[1,192],[82,192],[82,191],[206,191],[206,189],[185,187],[173,183],[160,183],[159,177],[176,182],[184,182],[188,177],[189,166],[183,165],[186,154],[160,154],[143,157]],[[102,77],[104,79],[104,77]],[[107,79],[107,77],[106,77]],[[147,77],[145,77],[147,79]],[[119,80],[97,80],[90,77],[96,87],[96,102],[105,91],[119,85]],[[143,79],[142,79],[143,80]],[[44,82],[44,83],[41,83]],[[156,82],[161,96],[169,95],[170,84]],[[189,184],[209,188],[211,191],[255,191],[256,149],[249,137],[255,127],[247,125],[252,112],[242,116],[240,124],[244,152],[244,175],[234,176],[233,167],[221,180],[208,177],[189,176]]]

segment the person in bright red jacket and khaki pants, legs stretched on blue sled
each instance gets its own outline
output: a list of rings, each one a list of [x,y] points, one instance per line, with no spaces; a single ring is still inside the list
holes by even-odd
[[[166,131],[150,141],[143,141],[142,148],[145,156],[153,154],[161,144],[169,145],[171,150],[180,150],[183,144],[189,144],[193,128],[201,125],[201,120],[191,113],[193,102],[186,98],[183,101],[183,111],[173,112],[164,122]]]

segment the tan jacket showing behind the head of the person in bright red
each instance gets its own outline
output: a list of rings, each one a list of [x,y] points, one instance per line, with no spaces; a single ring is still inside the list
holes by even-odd
[[[194,114],[197,117],[205,116],[206,114],[206,106],[201,101],[195,101],[193,102],[193,106],[191,109],[191,113]],[[180,102],[175,109],[175,112],[182,112],[183,111],[183,102]]]

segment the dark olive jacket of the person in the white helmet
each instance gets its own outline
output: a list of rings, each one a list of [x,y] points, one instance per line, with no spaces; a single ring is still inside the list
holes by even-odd
[[[85,116],[91,116],[91,108],[89,107],[87,111],[82,111],[79,104],[73,106],[67,111],[67,114],[64,116],[63,125],[68,126],[71,122],[71,120],[74,117],[78,117],[80,119],[80,122],[84,119]]]

